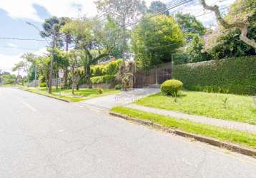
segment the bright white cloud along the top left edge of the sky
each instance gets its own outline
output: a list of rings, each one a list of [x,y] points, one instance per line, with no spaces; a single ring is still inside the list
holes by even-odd
[[[1,0],[0,9],[4,9],[14,19],[42,21],[34,9],[34,4],[44,7],[52,16],[78,17],[84,14],[97,14],[94,0]],[[76,5],[82,5],[81,14],[77,11]]]

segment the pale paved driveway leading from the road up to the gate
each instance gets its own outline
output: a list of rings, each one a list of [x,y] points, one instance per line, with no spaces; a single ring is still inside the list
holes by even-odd
[[[79,104],[86,108],[109,111],[111,108],[117,105],[126,105],[134,102],[135,100],[146,97],[147,95],[159,92],[159,88],[139,88],[116,95],[107,95],[99,98],[92,98],[90,100],[84,100],[79,102]]]

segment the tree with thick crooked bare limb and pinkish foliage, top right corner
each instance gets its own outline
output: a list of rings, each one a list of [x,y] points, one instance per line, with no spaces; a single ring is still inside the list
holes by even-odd
[[[256,41],[248,38],[248,26],[250,23],[248,19],[256,13],[256,1],[252,0],[237,0],[230,8],[230,14],[227,18],[223,18],[219,6],[209,6],[205,0],[200,0],[202,6],[210,11],[215,12],[217,21],[226,29],[238,28],[241,31],[240,40],[252,46],[256,50]]]

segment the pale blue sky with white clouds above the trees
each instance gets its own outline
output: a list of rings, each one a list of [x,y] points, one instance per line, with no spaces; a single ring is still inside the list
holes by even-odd
[[[97,9],[95,0],[0,0],[0,69],[11,72],[15,63],[21,61],[24,53],[45,53],[46,41],[18,41],[1,39],[8,38],[34,38],[43,39],[37,31],[26,22],[33,23],[41,28],[44,19],[51,16],[95,16]],[[145,0],[147,6],[153,0]],[[172,4],[179,0],[161,0],[165,4]],[[230,6],[235,0],[207,0],[207,4],[217,4],[225,13],[225,7]],[[79,10],[78,10],[79,9]],[[197,16],[205,26],[216,26],[214,14],[205,11],[199,0],[189,2],[184,6],[172,9],[170,12],[189,13]],[[209,13],[209,14],[208,14]],[[202,15],[205,14],[205,15]]]

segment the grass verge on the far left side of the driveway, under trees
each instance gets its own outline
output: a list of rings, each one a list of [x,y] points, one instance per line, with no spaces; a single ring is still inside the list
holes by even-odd
[[[74,95],[72,95],[71,89],[62,89],[61,93],[59,93],[59,90],[56,90],[55,88],[52,88],[52,93],[49,94],[46,88],[21,88],[22,90],[31,91],[34,93],[39,93],[41,95],[47,95],[52,98],[59,98],[62,100],[67,100],[69,102],[78,102],[82,100],[88,100],[90,98],[97,98],[104,95],[112,95],[115,93],[120,93],[119,90],[114,89],[103,89],[103,93],[99,94],[99,91],[97,88],[88,89],[88,88],[81,88],[79,90],[74,91]]]

